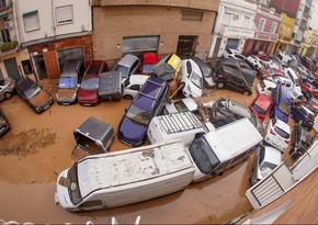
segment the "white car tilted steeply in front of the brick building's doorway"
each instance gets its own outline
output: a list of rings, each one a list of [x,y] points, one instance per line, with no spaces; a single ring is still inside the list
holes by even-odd
[[[181,86],[184,97],[198,98],[203,94],[203,76],[198,65],[192,59],[181,61]]]

